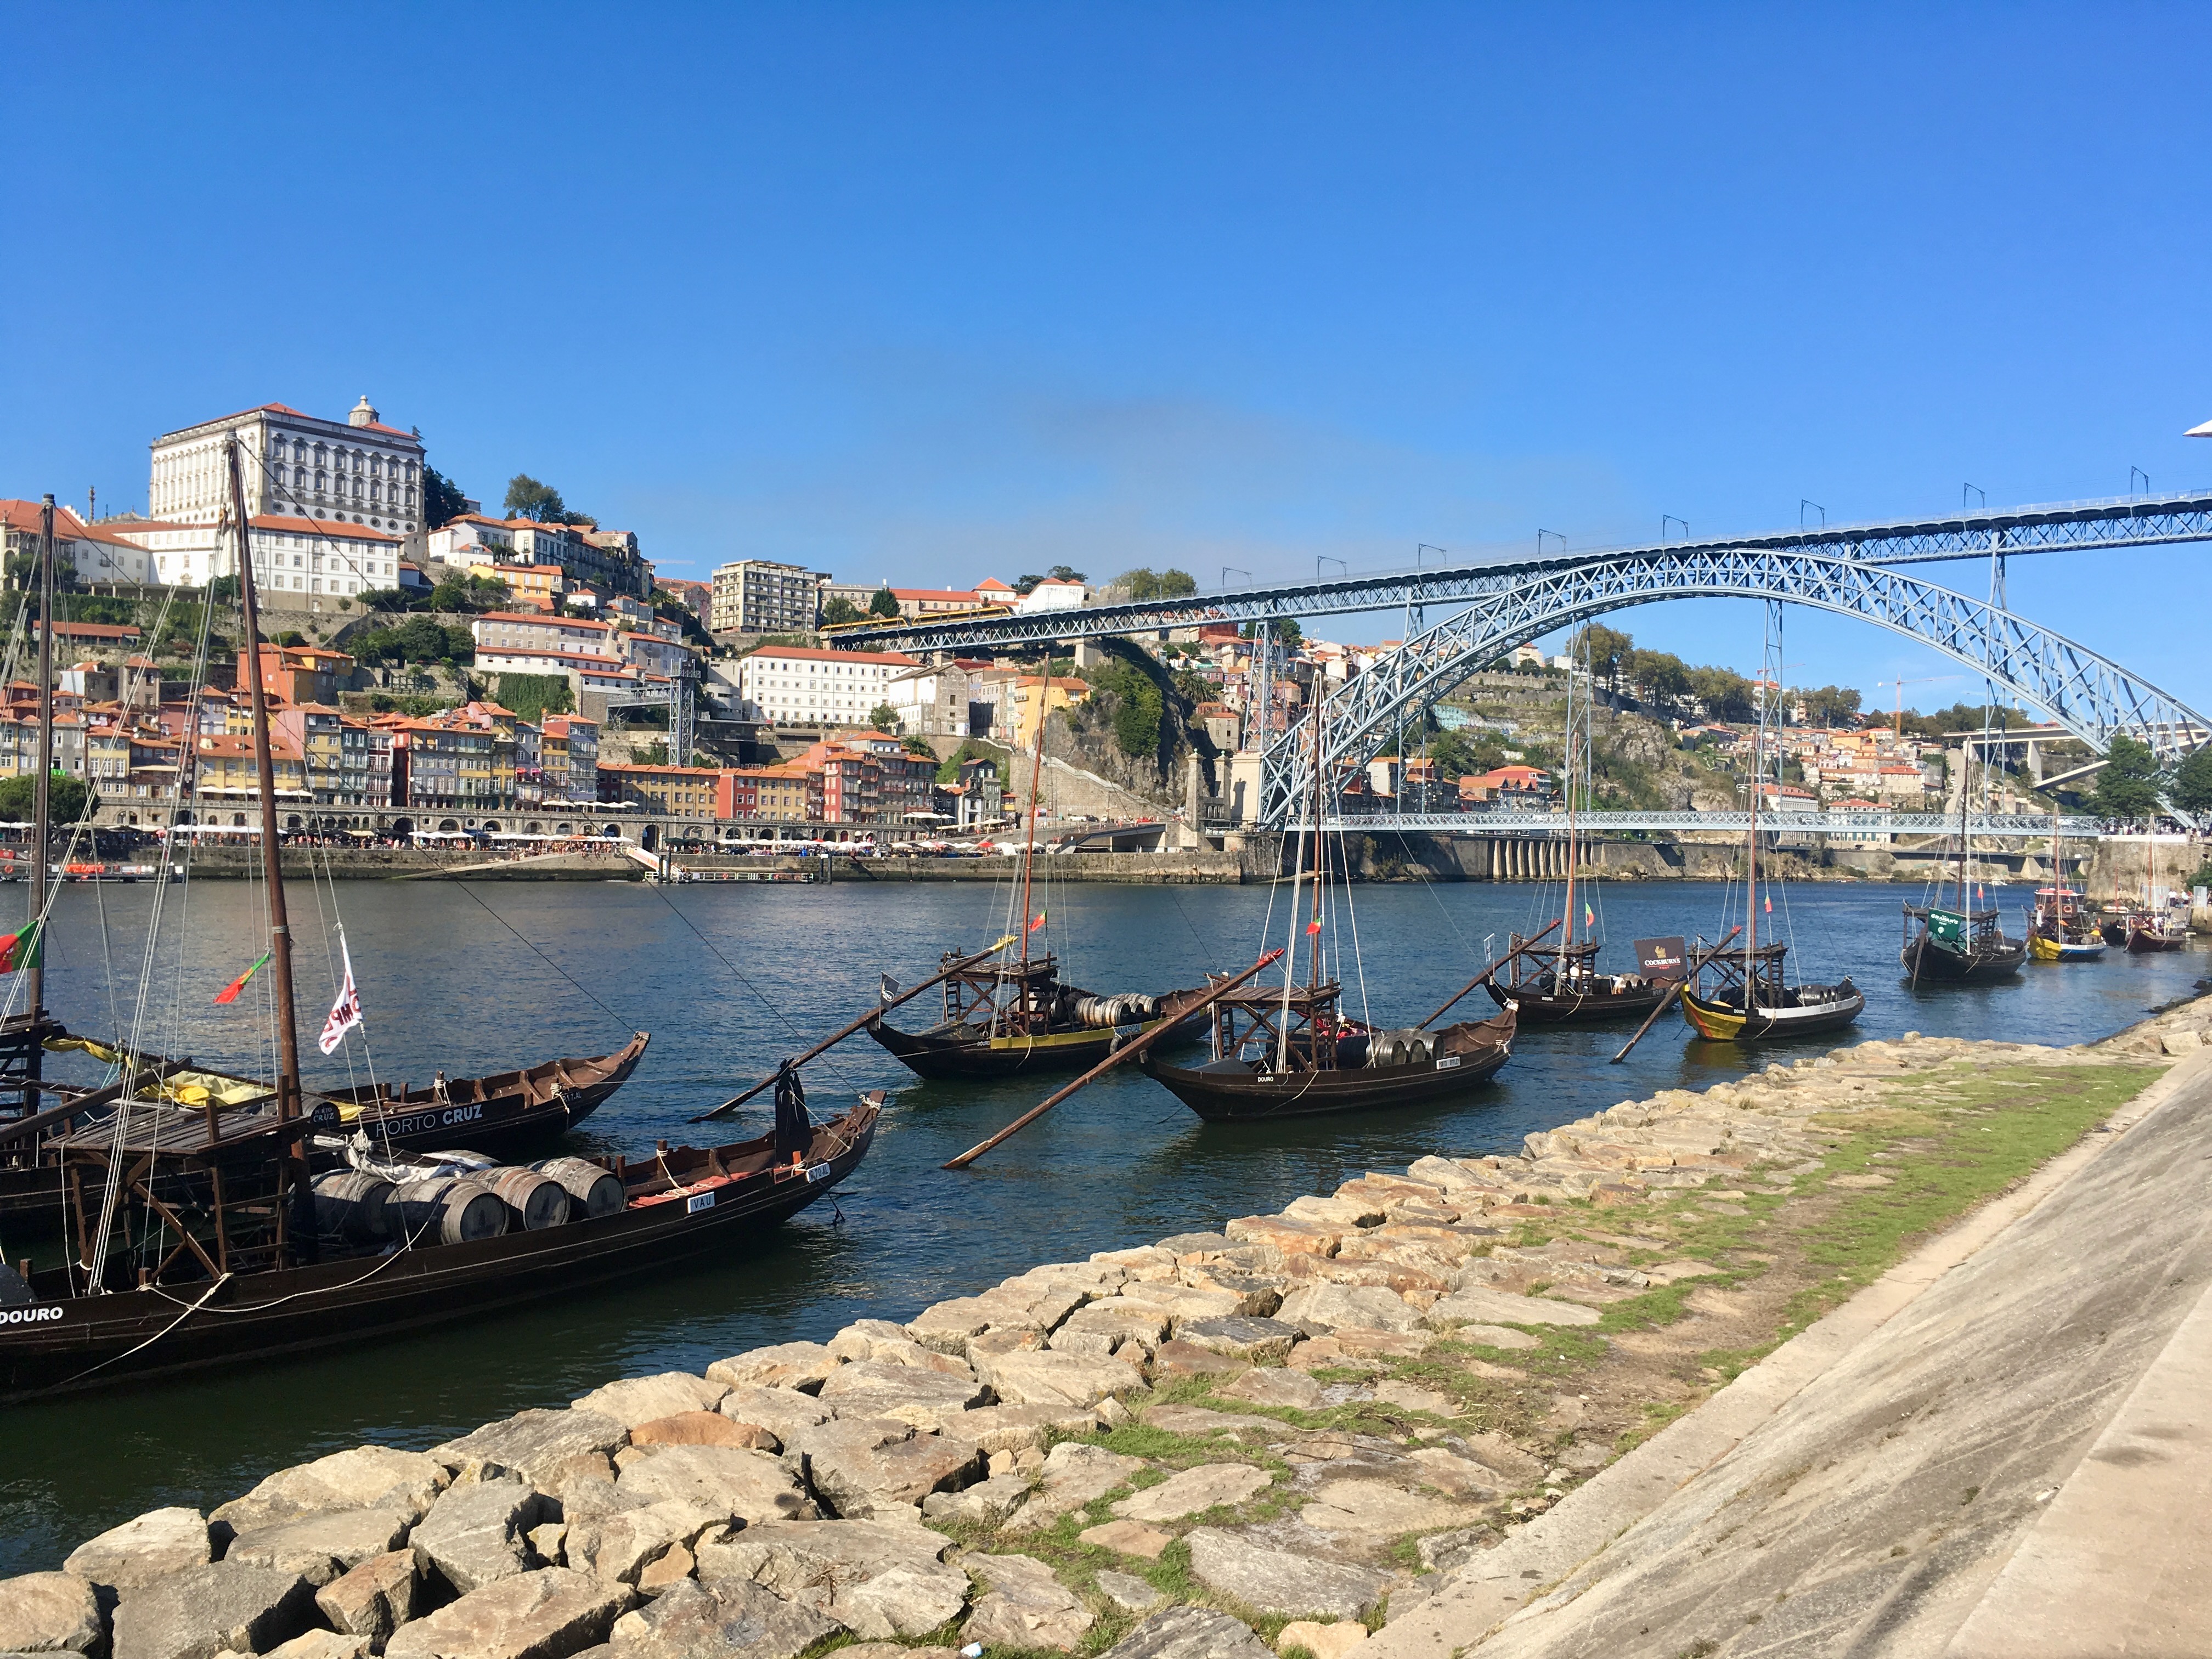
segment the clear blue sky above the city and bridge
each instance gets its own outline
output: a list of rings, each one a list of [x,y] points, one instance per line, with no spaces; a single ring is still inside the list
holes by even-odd
[[[1217,584],[2212,482],[2203,4],[0,24],[9,495],[139,504],[155,434],[363,392],[672,575]],[[2212,708],[2203,571],[2022,560],[2013,602]],[[1759,653],[1750,606],[1613,622]],[[1955,672],[1792,628],[1885,706]]]

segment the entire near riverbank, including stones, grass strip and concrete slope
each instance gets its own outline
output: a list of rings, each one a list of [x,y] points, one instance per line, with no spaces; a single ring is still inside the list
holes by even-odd
[[[341,1451],[0,1652],[2201,1652],[2208,1026],[1865,1042]]]

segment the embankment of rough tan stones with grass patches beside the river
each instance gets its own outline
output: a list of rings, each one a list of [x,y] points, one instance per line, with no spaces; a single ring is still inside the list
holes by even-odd
[[[1911,1091],[2137,1088],[2208,1026],[2199,1002],[2095,1048],[1867,1042],[905,1325],[356,1447],[0,1584],[0,1652],[1336,1659],[1694,1405],[1723,1376],[1699,1318],[1741,1321],[1761,1272],[1792,1307],[1834,1279],[1790,1279],[1781,1223],[1905,1181],[1836,1159]]]

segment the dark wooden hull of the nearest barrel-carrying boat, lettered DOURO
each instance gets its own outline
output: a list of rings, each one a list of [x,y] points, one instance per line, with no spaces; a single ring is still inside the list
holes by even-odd
[[[0,1405],[358,1345],[710,1254],[728,1259],[852,1175],[874,1144],[876,1117],[874,1104],[860,1104],[818,1126],[818,1157],[799,1177],[761,1170],[690,1197],[478,1243],[0,1307]],[[44,1281],[49,1274],[38,1274],[33,1290]]]

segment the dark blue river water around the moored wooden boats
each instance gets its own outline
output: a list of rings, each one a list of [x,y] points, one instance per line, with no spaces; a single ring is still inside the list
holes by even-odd
[[[22,887],[9,889],[20,896]],[[2008,931],[2026,887],[1993,889]],[[1557,887],[1358,887],[1365,989],[1349,1006],[1413,1024],[1484,962],[1486,936],[1557,916]],[[1582,909],[1577,889],[1577,911]],[[1900,902],[1918,887],[1805,885],[1774,898],[1761,933],[1794,940],[1794,975],[1851,973],[1867,993],[1858,1035],[2006,1037],[2066,1044],[2108,1035],[2190,995],[2203,956],[2108,956],[2093,967],[2028,964],[2004,987],[1920,987],[1898,973]],[[64,891],[49,956],[49,1002],[88,1033],[144,1020],[144,1042],[252,1066],[268,1048],[248,993],[212,995],[259,953],[259,889],[195,883],[164,898],[153,991],[137,1013],[150,887]],[[20,898],[0,898],[13,909]],[[301,1044],[314,1055],[332,995],[330,922],[343,909],[376,1075],[467,1077],[619,1046],[653,1031],[635,1079],[573,1135],[580,1150],[697,1139],[684,1126],[779,1055],[856,1015],[878,971],[914,982],[947,947],[980,949],[1006,922],[1004,885],[834,887],[341,883],[294,887],[301,936]],[[1248,964],[1283,889],[1053,885],[1048,938],[1071,978],[1099,991],[1197,984]],[[1637,936],[1717,938],[1741,898],[1710,883],[1597,889],[1604,967],[1630,967]],[[1349,933],[1338,911],[1336,933]],[[1577,918],[1579,925],[1579,918]],[[263,975],[265,978],[265,975]],[[257,982],[259,989],[259,982]],[[922,1024],[925,993],[907,1013]],[[1478,1006],[1480,1004],[1480,1006]],[[1482,993],[1462,1004],[1493,1009]],[[363,1440],[427,1447],[524,1407],[566,1405],[626,1374],[701,1369],[761,1343],[823,1340],[854,1318],[909,1318],[1037,1261],[1219,1228],[1329,1192],[1363,1170],[1425,1152],[1517,1150],[1522,1135],[1659,1088],[1701,1088],[1792,1053],[1703,1044],[1679,1015],[1621,1066],[1619,1029],[1524,1031],[1498,1079],[1462,1102],[1272,1128],[1206,1126],[1135,1071],[1110,1073],[975,1168],[947,1157],[1026,1110],[1053,1079],[920,1084],[867,1037],[810,1068],[821,1115],[854,1088],[889,1086],[876,1150],[836,1203],[790,1223],[763,1254],[622,1290],[580,1294],[480,1323],[332,1358],[270,1363],[221,1378],[15,1407],[0,1420],[0,1575],[58,1566],[82,1537],[159,1504],[212,1506],[283,1464]],[[1847,1037],[1829,1037],[1834,1044]],[[1823,1044],[1812,1044],[1818,1051]],[[349,1048],[361,1064],[361,1040]],[[354,1073],[365,1079],[363,1071]],[[310,1073],[310,1082],[316,1073]],[[765,1106],[765,1097],[761,1099]],[[759,1133],[765,1110],[728,1139]],[[55,1237],[0,1239],[7,1259],[51,1256]]]

